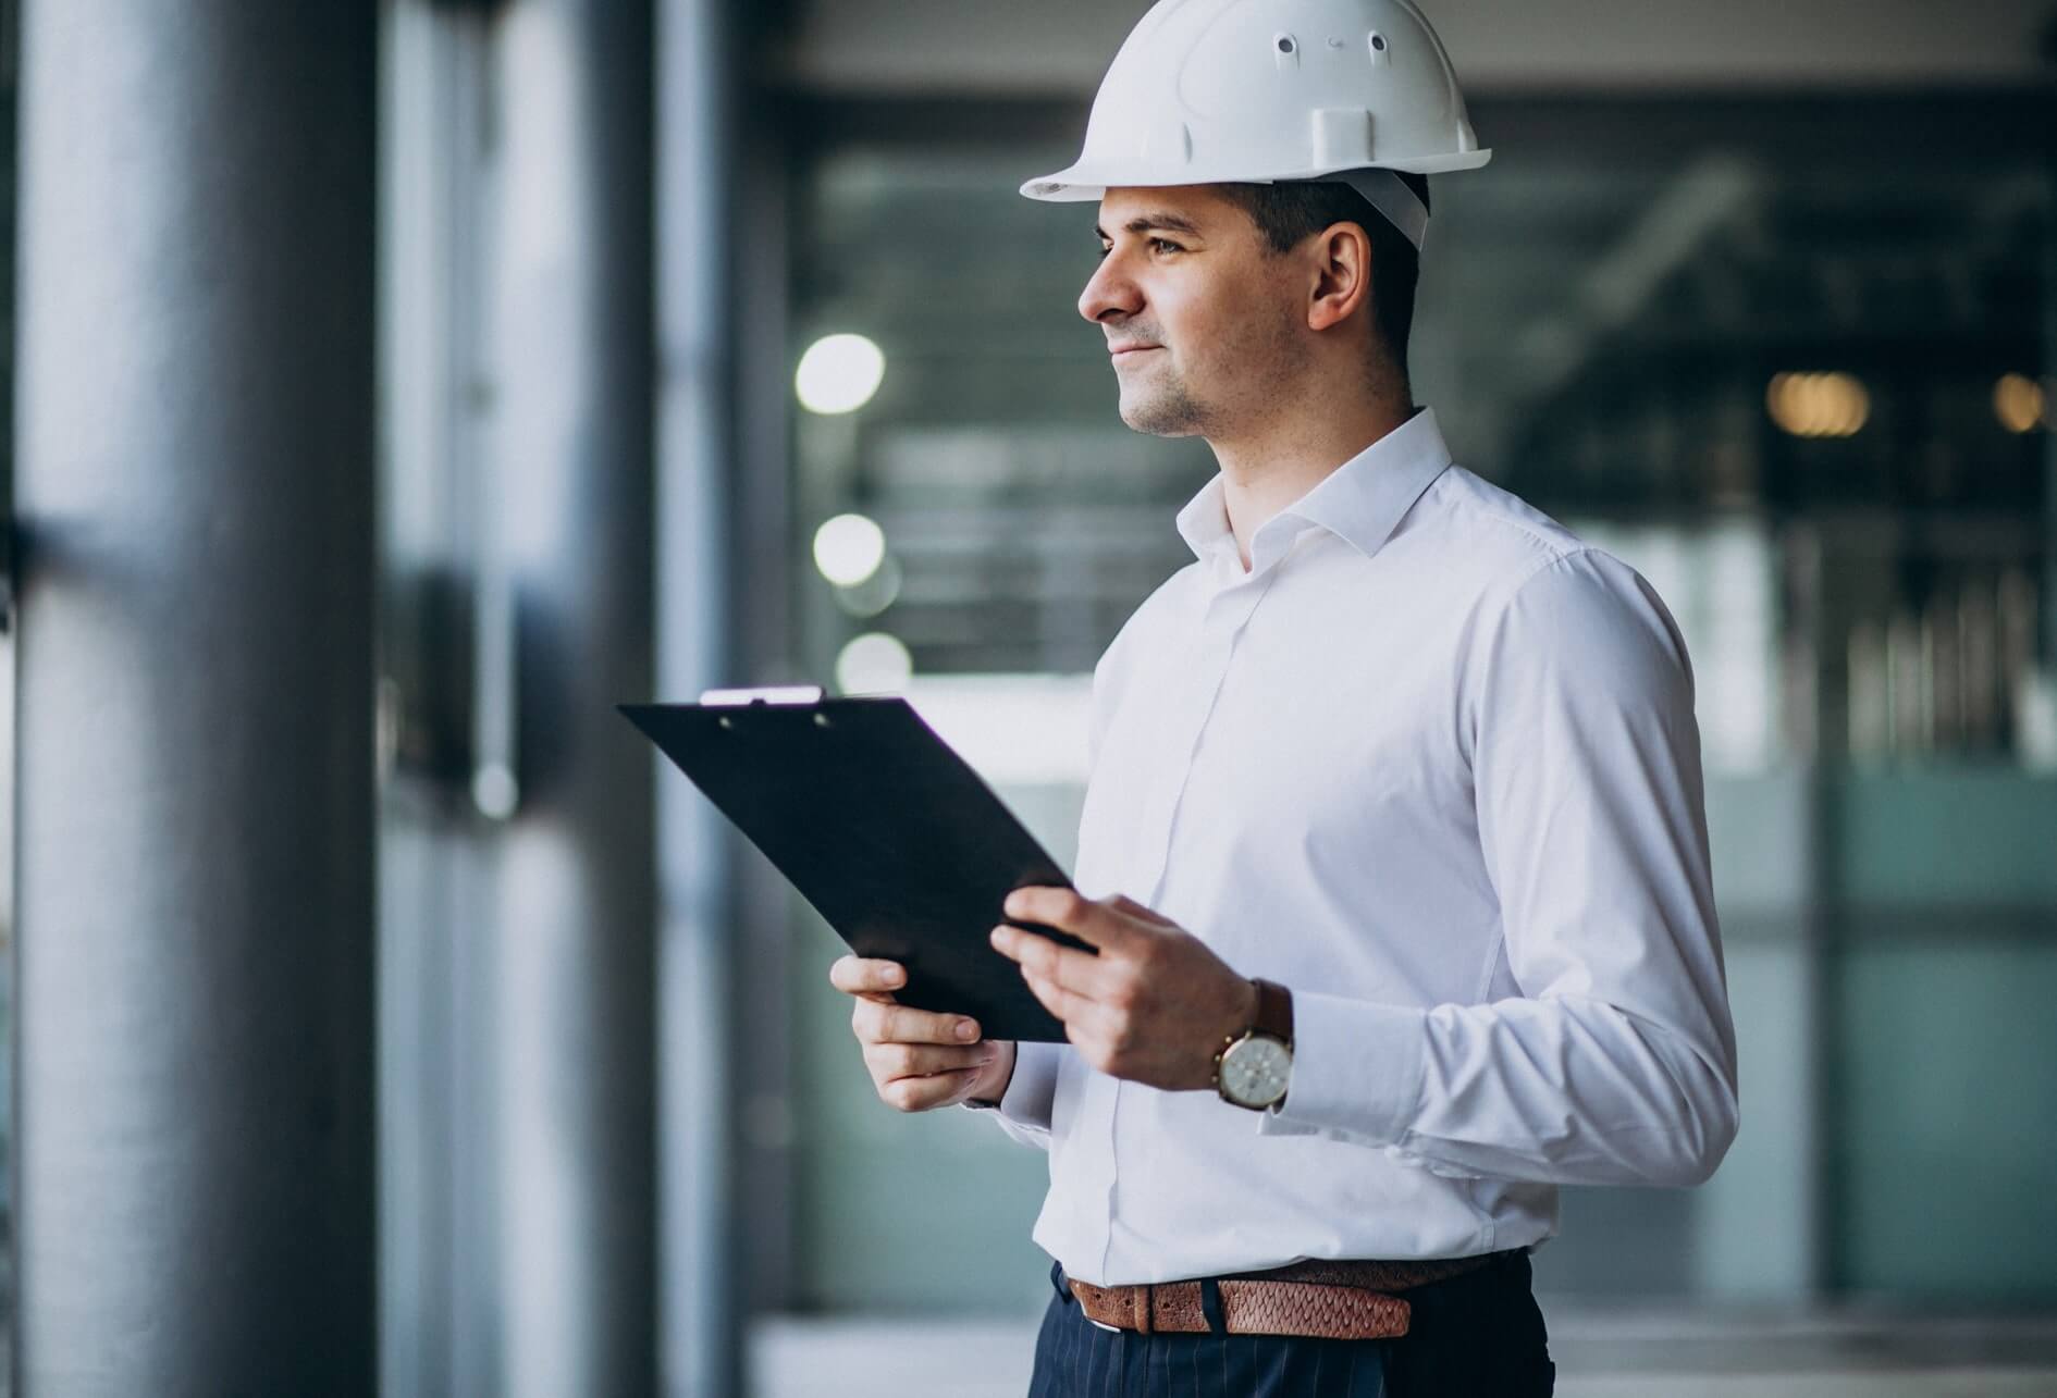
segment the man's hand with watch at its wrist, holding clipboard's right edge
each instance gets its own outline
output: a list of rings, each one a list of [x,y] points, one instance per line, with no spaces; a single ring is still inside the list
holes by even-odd
[[[1257,985],[1133,898],[1016,888],[1002,911],[1098,948],[1088,956],[1008,925],[991,933],[1043,1007],[1063,1020],[1066,1038],[1103,1073],[1166,1092],[1214,1088],[1214,1055],[1257,1022]]]

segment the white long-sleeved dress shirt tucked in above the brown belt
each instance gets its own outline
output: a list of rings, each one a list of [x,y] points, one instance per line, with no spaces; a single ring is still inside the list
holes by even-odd
[[[1020,1044],[1035,1240],[1100,1285],[1450,1258],[1557,1184],[1695,1184],[1736,1131],[1693,674],[1619,559],[1450,465],[1432,411],[1107,648],[1074,882],[1292,989],[1284,1108]]]

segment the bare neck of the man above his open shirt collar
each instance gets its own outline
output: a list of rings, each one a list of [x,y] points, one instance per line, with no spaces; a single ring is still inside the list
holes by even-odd
[[[1242,569],[1251,567],[1251,539],[1273,514],[1413,415],[1411,395],[1401,389],[1341,405],[1282,409],[1232,438],[1210,436]]]

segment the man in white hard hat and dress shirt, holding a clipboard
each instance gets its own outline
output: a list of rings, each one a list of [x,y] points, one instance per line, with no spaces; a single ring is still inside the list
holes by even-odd
[[[1004,907],[1098,954],[991,931],[1070,1042],[831,981],[880,1098],[1049,1151],[1033,1394],[1547,1394],[1557,1186],[1734,1137],[1679,631],[1407,382],[1423,177],[1485,158],[1405,0],[1166,0],[1024,187],[1100,199],[1121,417],[1220,473],[1094,670],[1080,892]]]

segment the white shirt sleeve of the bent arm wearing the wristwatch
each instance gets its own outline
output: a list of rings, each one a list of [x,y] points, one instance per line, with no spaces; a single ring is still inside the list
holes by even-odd
[[[1448,1176],[1697,1184],[1736,1133],[1736,1038],[1685,643],[1650,584],[1580,551],[1516,588],[1469,678],[1479,845],[1520,995],[1417,1007],[1294,987],[1292,1081],[1259,1133]]]

